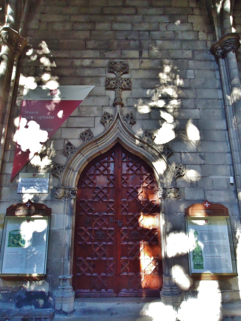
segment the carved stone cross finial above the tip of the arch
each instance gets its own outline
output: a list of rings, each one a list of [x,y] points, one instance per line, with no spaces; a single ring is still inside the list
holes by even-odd
[[[123,106],[123,102],[121,99],[121,91],[122,90],[130,90],[131,89],[131,79],[130,78],[121,78],[122,74],[128,74],[129,65],[126,61],[109,61],[108,63],[108,72],[113,73],[116,77],[107,77],[105,80],[105,88],[106,89],[114,89],[115,90],[115,100],[113,105],[121,105]]]

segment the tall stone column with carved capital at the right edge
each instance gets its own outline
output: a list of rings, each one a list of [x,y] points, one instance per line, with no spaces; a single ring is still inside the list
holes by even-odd
[[[227,19],[226,17],[226,22]],[[210,52],[215,56],[221,74],[237,197],[241,211],[241,83],[236,57],[240,47],[239,39],[237,33],[228,33],[212,44]]]

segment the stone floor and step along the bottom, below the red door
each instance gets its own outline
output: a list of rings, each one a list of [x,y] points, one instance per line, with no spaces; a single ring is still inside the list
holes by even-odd
[[[192,304],[193,306],[193,304]],[[81,298],[74,315],[54,315],[52,309],[1,309],[0,321],[241,321],[241,302],[206,306],[183,306],[175,311],[156,298]]]

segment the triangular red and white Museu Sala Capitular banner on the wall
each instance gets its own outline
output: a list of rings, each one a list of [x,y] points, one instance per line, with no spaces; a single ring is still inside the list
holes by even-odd
[[[25,89],[19,126],[14,139],[16,148],[11,180],[39,152],[47,140],[66,121],[94,86],[58,86],[49,90],[37,86]]]

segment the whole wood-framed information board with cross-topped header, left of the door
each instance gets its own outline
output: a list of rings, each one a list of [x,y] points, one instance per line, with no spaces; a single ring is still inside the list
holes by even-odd
[[[51,209],[47,206],[30,200],[7,209],[0,252],[0,278],[44,278],[50,214]]]

